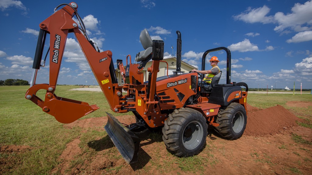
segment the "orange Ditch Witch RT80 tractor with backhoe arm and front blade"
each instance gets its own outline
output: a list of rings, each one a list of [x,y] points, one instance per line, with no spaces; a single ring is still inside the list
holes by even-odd
[[[64,6],[57,10],[60,6]],[[172,75],[157,77],[159,63],[163,59],[164,43],[151,40],[144,29],[140,41],[144,50],[136,56],[136,64],[124,66],[117,59],[117,67],[124,79],[118,85],[110,50],[100,52],[86,33],[85,25],[77,12],[77,4],[60,4],[55,13],[39,24],[37,49],[33,62],[31,85],[25,98],[41,107],[42,111],[54,116],[61,123],[76,121],[97,109],[89,105],[55,94],[66,38],[74,33],[85,54],[97,82],[107,99],[110,109],[117,113],[133,112],[136,122],[121,124],[117,118],[107,113],[105,126],[107,134],[114,142],[127,163],[138,159],[139,144],[151,129],[162,127],[163,141],[171,153],[177,156],[198,154],[206,143],[207,127],[211,126],[222,137],[233,140],[241,137],[246,121],[246,83],[231,83],[231,52],[225,47],[207,50],[202,56],[202,70],[205,70],[207,54],[224,50],[227,53],[227,84],[218,84],[221,73],[212,78],[211,86],[204,86],[199,73],[181,72],[181,33],[177,31],[177,70]],[[78,22],[72,18],[76,16]],[[50,36],[50,78],[49,84],[36,84],[37,71],[41,67],[46,35]],[[152,61],[148,70],[148,81],[144,82],[142,70]],[[241,86],[246,87],[242,91]],[[36,96],[38,90],[46,90],[45,99]],[[123,91],[127,92],[122,93]]]

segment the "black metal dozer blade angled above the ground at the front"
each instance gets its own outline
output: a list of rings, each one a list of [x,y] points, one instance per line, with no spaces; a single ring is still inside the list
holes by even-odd
[[[107,112],[106,114],[108,120],[104,128],[110,139],[128,164],[136,162],[138,160],[140,138],[121,124],[113,115]]]

